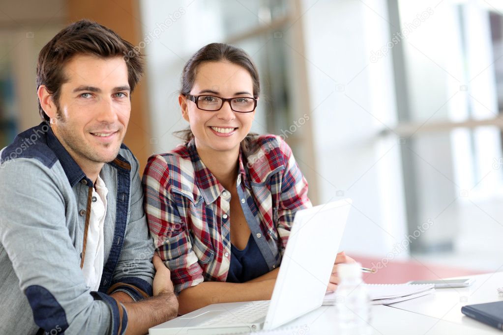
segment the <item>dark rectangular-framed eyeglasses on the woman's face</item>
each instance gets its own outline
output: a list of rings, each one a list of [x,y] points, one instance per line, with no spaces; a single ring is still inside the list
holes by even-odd
[[[196,104],[199,109],[208,111],[217,111],[223,107],[223,103],[228,101],[230,109],[238,113],[251,113],[257,108],[258,99],[247,96],[238,96],[235,98],[222,98],[215,95],[191,95],[185,94],[187,99]]]

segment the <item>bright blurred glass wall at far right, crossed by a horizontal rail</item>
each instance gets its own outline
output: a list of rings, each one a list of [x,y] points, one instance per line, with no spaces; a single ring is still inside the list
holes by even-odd
[[[495,267],[503,252],[501,5],[492,3],[398,2],[401,31],[410,31],[403,66],[395,62],[409,232],[435,221],[412,251],[475,268]]]

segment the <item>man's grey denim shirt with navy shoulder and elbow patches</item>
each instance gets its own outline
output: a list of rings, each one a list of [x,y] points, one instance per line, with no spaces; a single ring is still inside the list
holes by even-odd
[[[91,291],[81,266],[93,182],[47,123],[0,152],[0,333],[121,334],[124,306],[152,295],[153,241],[143,212],[138,161],[121,146],[100,172],[109,193],[104,269]]]

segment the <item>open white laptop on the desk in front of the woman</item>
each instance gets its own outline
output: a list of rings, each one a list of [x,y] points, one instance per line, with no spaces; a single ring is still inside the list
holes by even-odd
[[[321,306],[351,199],[297,211],[271,300],[216,303],[149,329],[160,334],[226,334],[279,327]]]

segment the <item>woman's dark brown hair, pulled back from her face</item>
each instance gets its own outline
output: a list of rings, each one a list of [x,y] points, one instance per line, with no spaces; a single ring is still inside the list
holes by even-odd
[[[259,71],[251,57],[242,49],[224,43],[210,43],[199,49],[185,64],[182,72],[181,94],[190,94],[194,81],[196,80],[197,68],[204,62],[227,61],[243,67],[251,76],[253,81],[253,95],[255,98],[260,95]],[[185,142],[194,138],[194,134],[189,129],[175,132],[175,135]],[[248,134],[241,142],[241,150],[245,156],[253,149],[251,144],[257,134]]]

